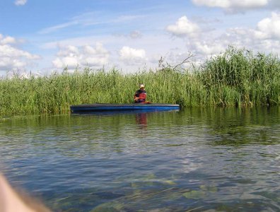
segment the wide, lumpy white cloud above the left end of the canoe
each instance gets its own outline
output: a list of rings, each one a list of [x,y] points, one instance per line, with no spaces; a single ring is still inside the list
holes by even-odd
[[[100,68],[109,61],[110,52],[100,42],[97,42],[95,47],[68,45],[59,48],[57,58],[52,61],[53,66],[58,69],[66,66],[69,69],[75,69],[79,65]]]

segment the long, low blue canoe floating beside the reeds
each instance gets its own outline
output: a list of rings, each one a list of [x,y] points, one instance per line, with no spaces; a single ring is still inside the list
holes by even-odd
[[[71,105],[72,113],[77,112],[100,112],[100,111],[162,111],[162,110],[179,110],[179,105],[168,104],[89,104],[89,105]]]

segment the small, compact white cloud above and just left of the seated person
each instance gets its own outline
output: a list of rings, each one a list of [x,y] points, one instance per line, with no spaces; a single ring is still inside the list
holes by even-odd
[[[119,50],[119,57],[126,64],[138,64],[146,59],[146,52],[144,49],[122,47],[122,49]]]

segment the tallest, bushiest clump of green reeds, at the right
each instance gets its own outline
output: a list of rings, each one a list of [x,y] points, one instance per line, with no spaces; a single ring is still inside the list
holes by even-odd
[[[229,47],[198,73],[211,105],[279,105],[280,61]]]

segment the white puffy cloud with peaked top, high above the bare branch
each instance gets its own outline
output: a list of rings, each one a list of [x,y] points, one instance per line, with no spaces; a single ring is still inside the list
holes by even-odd
[[[182,16],[179,18],[175,25],[168,25],[166,30],[168,30],[169,33],[179,37],[194,37],[200,31],[199,26],[195,23],[192,23],[187,18],[187,16]]]

